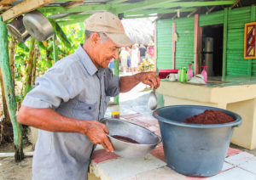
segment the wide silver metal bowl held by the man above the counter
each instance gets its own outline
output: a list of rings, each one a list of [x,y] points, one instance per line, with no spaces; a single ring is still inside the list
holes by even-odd
[[[114,153],[128,158],[139,158],[147,155],[162,139],[144,127],[137,126],[128,121],[104,118],[101,121],[109,130],[108,138],[113,144]],[[113,135],[131,138],[137,143],[125,143]]]

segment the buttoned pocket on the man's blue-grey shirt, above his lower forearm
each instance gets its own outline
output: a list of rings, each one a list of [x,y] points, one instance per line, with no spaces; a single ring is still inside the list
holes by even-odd
[[[75,105],[73,117],[77,120],[97,121],[99,115],[99,105],[96,99],[85,99]]]

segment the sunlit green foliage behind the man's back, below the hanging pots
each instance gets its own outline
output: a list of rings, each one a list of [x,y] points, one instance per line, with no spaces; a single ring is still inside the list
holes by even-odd
[[[85,29],[83,23],[61,27],[55,22],[55,20],[50,20],[50,22],[53,25],[55,33],[58,37],[59,59],[74,53],[79,47],[79,44],[84,43]],[[38,54],[36,64],[37,77],[43,75],[45,71],[54,64],[53,43],[53,38],[49,38],[47,42],[38,42],[36,45],[36,49],[38,47],[38,50],[36,51]],[[23,84],[20,95],[16,96],[16,101],[19,104],[21,104],[24,98],[23,94],[25,93],[26,89],[26,71],[28,66],[30,44],[30,40],[28,40],[26,43],[18,43],[15,50],[15,79]],[[33,87],[35,86],[28,86],[26,91],[31,91]]]

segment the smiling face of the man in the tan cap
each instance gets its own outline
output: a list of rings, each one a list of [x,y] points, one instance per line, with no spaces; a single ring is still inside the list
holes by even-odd
[[[113,43],[111,40],[107,40],[101,43],[100,39],[96,42],[96,64],[102,68],[107,68],[111,59],[118,59],[119,46]]]

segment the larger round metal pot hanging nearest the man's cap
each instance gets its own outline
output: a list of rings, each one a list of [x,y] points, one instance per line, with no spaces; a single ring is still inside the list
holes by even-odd
[[[47,41],[55,33],[49,20],[38,10],[25,14],[23,23],[29,34],[39,42]]]

